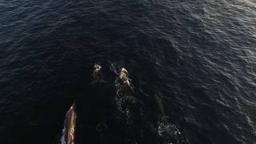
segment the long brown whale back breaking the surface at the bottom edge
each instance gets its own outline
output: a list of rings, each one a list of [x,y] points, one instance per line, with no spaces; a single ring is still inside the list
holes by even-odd
[[[66,127],[66,133],[65,133],[65,142],[66,144],[71,144],[71,142],[74,140],[74,128],[75,128],[75,111],[74,111],[75,104],[70,107],[70,110],[66,112],[66,119],[65,119],[65,127]]]

